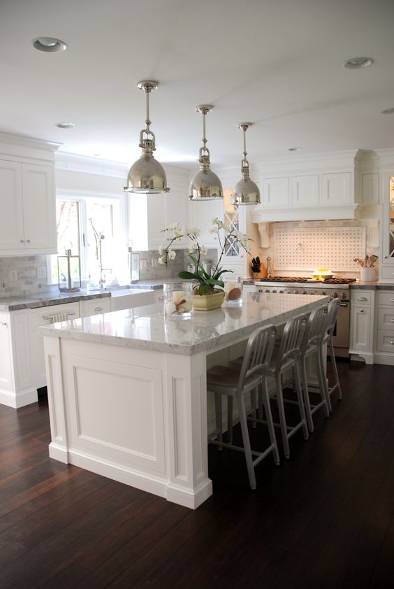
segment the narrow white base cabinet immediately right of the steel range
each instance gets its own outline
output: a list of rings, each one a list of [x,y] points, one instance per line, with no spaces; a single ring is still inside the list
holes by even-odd
[[[374,290],[352,290],[349,352],[362,356],[367,364],[374,362],[373,327]]]

